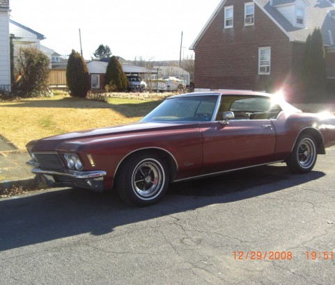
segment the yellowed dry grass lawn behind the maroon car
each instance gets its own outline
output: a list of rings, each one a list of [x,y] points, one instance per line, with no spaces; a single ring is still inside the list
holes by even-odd
[[[24,150],[30,140],[140,120],[159,99],[108,99],[108,103],[61,94],[0,101],[0,136]]]

